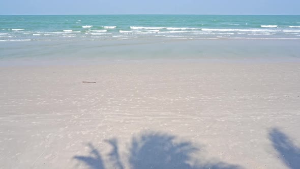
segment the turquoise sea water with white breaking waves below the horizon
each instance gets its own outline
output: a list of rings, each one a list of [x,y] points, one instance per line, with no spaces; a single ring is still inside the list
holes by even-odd
[[[118,39],[300,39],[300,16],[0,16],[0,41]]]

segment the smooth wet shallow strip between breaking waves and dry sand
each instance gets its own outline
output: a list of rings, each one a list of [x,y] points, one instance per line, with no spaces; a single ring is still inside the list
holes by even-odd
[[[298,62],[300,40],[108,40],[5,42],[0,66],[121,62]]]

